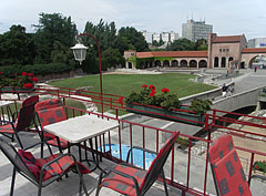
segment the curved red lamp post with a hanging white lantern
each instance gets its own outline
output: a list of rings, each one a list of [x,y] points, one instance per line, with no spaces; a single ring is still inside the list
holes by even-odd
[[[83,37],[83,35],[88,35],[90,38],[92,38],[95,42],[96,42],[96,47],[98,47],[98,53],[99,53],[99,69],[100,69],[100,97],[101,97],[101,105],[102,105],[102,117],[103,117],[103,96],[102,96],[102,64],[101,64],[101,50],[100,50],[100,44],[98,42],[98,40],[95,39],[95,37],[93,37],[90,33],[80,33],[76,37],[78,43],[72,47],[71,49],[73,50],[73,54],[76,61],[80,62],[80,64],[82,63],[82,61],[85,60],[85,55],[86,55],[86,50],[88,47],[83,45],[80,41],[79,38]]]

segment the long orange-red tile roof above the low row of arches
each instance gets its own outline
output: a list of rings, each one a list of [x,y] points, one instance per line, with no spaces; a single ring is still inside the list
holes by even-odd
[[[207,51],[136,52],[136,58],[207,58]]]

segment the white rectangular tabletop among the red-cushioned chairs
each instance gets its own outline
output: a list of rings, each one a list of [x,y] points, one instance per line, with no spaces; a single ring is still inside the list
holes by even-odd
[[[43,130],[70,143],[80,143],[116,127],[119,123],[115,121],[96,115],[82,115],[47,125]]]

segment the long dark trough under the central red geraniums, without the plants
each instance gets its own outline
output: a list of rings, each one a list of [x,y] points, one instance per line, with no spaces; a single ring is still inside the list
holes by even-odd
[[[181,106],[181,110],[188,110],[188,107]],[[187,112],[167,111],[162,107],[152,107],[149,105],[137,105],[132,103],[126,104],[126,111],[131,113],[151,116],[151,117],[156,117],[156,118],[162,118],[167,121],[175,121],[175,122],[181,122],[181,123],[186,123],[186,124],[192,124],[197,126],[203,126],[206,118],[205,115],[192,114]],[[191,122],[191,121],[194,121],[194,122]]]

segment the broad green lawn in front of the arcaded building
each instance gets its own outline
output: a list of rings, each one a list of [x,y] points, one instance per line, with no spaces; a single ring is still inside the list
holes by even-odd
[[[143,84],[153,84],[156,92],[161,92],[163,87],[170,89],[171,93],[177,93],[178,97],[184,97],[195,93],[201,93],[215,89],[215,86],[206,85],[190,81],[195,75],[181,73],[165,73],[165,74],[103,74],[103,93],[125,96],[131,91],[141,90]],[[88,75],[83,78],[72,78],[50,82],[49,84],[76,89],[81,86],[92,86],[90,91],[100,92],[100,76]]]

